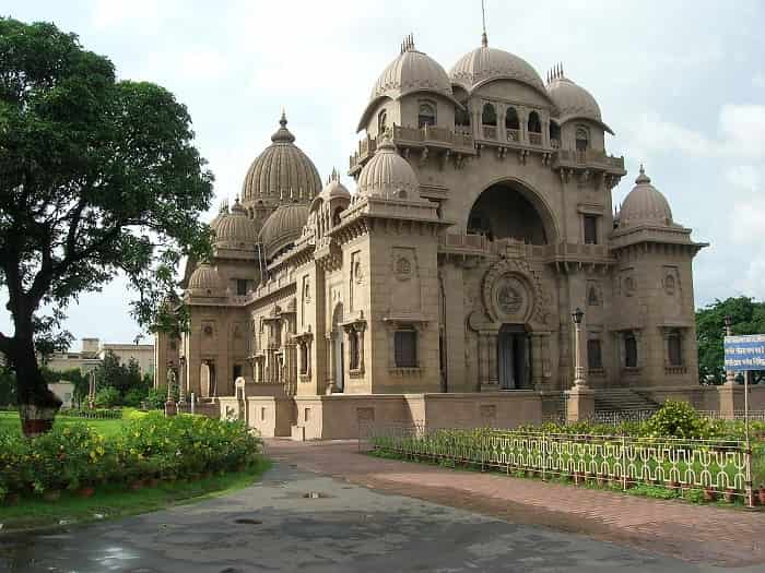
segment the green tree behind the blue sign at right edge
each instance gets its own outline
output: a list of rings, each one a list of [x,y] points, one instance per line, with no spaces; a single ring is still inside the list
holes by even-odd
[[[696,337],[698,339],[698,377],[702,383],[725,382],[726,331],[725,318],[730,314],[733,334],[765,333],[765,302],[750,297],[716,300],[696,311]],[[765,371],[754,372],[754,382],[765,382]]]

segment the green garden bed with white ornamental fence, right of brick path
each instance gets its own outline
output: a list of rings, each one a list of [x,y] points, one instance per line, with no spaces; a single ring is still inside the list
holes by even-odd
[[[642,423],[544,425],[514,430],[370,427],[372,453],[446,467],[574,482],[660,499],[765,504],[765,426],[706,420],[668,403]]]

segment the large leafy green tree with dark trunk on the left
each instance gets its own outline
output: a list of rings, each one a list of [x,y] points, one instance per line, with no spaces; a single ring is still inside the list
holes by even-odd
[[[190,124],[173,94],[117,81],[75,35],[0,19],[0,289],[14,329],[0,350],[27,435],[60,406],[37,357],[68,344],[67,305],[123,273],[152,324],[179,259],[208,252],[212,175]]]

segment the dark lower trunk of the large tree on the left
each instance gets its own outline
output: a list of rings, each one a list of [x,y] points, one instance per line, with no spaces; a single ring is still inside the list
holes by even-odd
[[[27,438],[50,430],[61,401],[48,390],[43,372],[37,366],[32,332],[16,331],[10,356],[16,373],[16,396],[21,429]]]

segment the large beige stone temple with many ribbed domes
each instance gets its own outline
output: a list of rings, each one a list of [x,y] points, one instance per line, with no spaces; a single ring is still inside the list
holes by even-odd
[[[322,186],[282,115],[211,222],[213,256],[189,262],[190,329],[157,336],[158,384],[173,369],[264,435],[534,421],[572,386],[580,308],[599,405],[697,386],[705,244],[643,168],[614,212],[624,158],[562,67],[544,81],[484,34],[447,72],[408,37],[357,130],[355,184]]]

